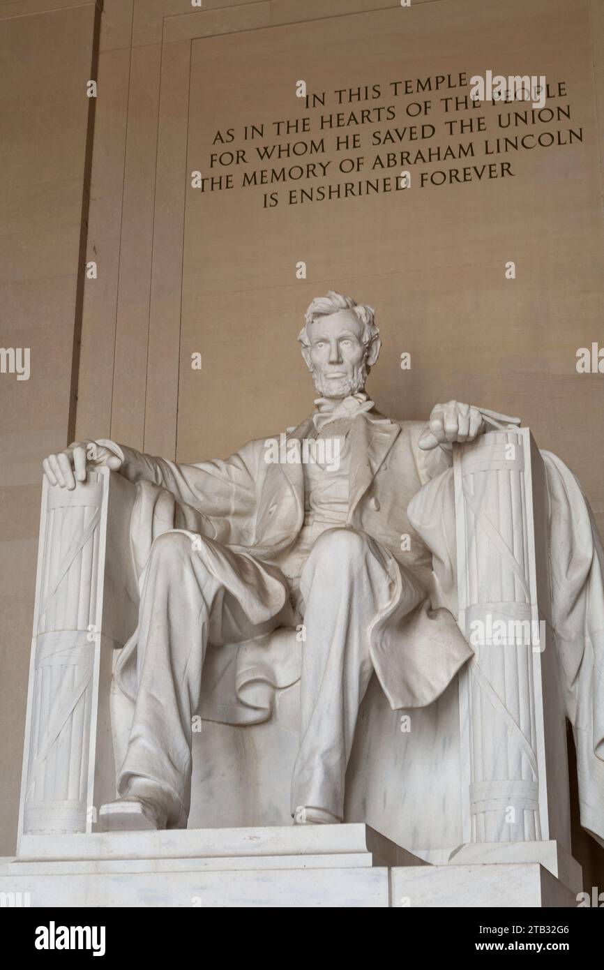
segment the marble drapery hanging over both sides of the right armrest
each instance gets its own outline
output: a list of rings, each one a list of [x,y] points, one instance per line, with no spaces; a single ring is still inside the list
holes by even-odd
[[[551,452],[547,481],[552,626],[565,713],[577,749],[581,823],[604,845],[604,551],[581,486]],[[432,553],[432,598],[458,616],[454,471],[410,502]]]

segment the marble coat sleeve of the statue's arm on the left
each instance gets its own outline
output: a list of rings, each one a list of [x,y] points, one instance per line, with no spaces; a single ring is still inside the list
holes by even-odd
[[[257,455],[250,441],[225,461],[216,459],[195,465],[178,465],[166,458],[144,455],[135,448],[108,438],[97,443],[110,448],[121,460],[120,474],[131,482],[149,481],[208,517],[234,518],[249,515],[256,503]]]

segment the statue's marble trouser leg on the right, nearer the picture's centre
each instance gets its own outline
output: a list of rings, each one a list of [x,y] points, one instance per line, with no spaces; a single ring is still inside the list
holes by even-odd
[[[346,765],[373,670],[369,629],[395,595],[392,563],[365,533],[334,529],[317,539],[302,571],[302,729],[293,815],[305,806],[343,818]],[[410,596],[409,608],[416,602]]]

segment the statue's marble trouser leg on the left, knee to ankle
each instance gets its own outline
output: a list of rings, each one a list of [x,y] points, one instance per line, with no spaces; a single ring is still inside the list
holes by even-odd
[[[262,566],[191,533],[159,536],[152,546],[139,609],[138,691],[130,740],[117,791],[158,794],[168,826],[186,824],[191,789],[192,716],[200,702],[207,643],[249,639],[279,625],[278,583],[269,577],[264,609],[254,595],[267,576]],[[221,573],[233,582],[227,589]],[[246,585],[247,580],[247,585]],[[283,599],[286,587],[283,583]],[[253,602],[252,602],[253,600]],[[247,611],[246,611],[247,610]],[[255,623],[249,612],[261,622]]]

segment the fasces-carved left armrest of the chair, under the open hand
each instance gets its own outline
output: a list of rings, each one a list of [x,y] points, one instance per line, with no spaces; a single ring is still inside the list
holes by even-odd
[[[91,731],[109,729],[112,646],[136,625],[133,493],[109,469],[89,469],[71,491],[45,479],[19,834],[89,831],[95,791],[110,784]]]

